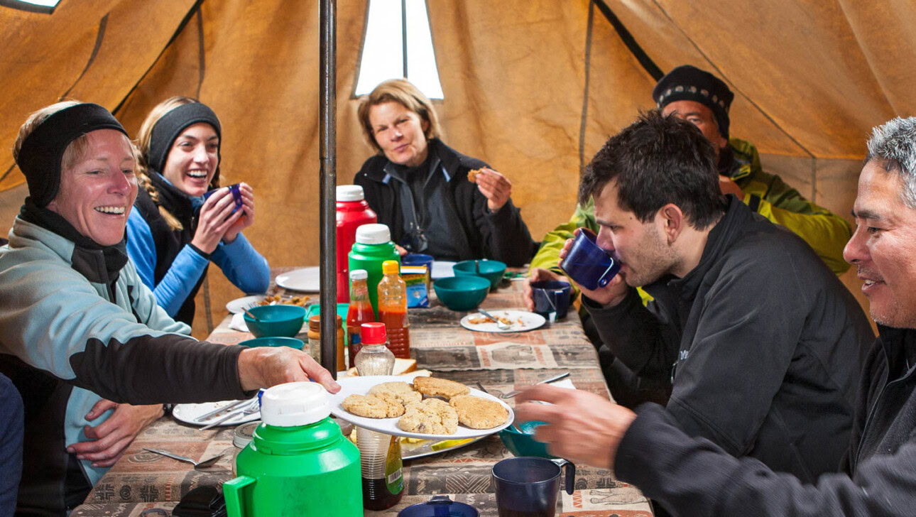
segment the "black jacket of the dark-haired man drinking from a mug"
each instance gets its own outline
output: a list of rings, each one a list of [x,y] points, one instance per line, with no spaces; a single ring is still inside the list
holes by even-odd
[[[687,435],[812,482],[839,468],[874,334],[811,247],[729,201],[696,268],[645,286],[648,307],[632,289],[589,312],[629,369],[670,373]]]

